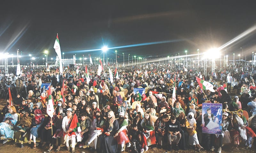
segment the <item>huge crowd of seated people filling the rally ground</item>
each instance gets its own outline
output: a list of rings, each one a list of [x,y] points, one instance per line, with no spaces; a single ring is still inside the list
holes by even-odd
[[[23,69],[20,77],[26,81],[22,90],[13,98],[13,105],[7,102],[0,116],[3,143],[20,131],[21,148],[26,137],[33,149],[40,138],[41,146],[50,144],[48,152],[54,147],[59,151],[62,142],[72,153],[75,147],[103,153],[125,148],[143,153],[149,147],[218,153],[223,145],[237,150],[239,145],[255,148],[256,87],[250,68],[247,72],[224,69],[212,78],[192,68],[179,70],[175,65],[126,66],[117,69],[119,77],[113,81],[108,71],[98,76],[96,67],[88,68],[89,82],[83,66],[66,68],[63,75],[56,68]],[[201,89],[196,77],[210,82],[215,92]],[[49,89],[41,88],[44,82],[51,82],[52,118],[46,113]],[[145,88],[145,94],[134,92],[134,88]],[[173,88],[176,101],[172,100]],[[221,135],[202,133],[202,127],[207,126],[202,120],[212,119],[210,110],[208,116],[202,115],[205,102],[222,104]]]

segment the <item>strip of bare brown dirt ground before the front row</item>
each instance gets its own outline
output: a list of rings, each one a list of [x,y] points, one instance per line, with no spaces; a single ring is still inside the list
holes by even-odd
[[[231,89],[232,91],[232,89]],[[233,93],[229,93],[231,95],[231,98],[233,98],[235,96],[235,94]],[[4,99],[0,99],[0,110],[2,110],[2,108],[4,107],[4,105],[6,104],[6,101]],[[39,142],[39,145],[37,146],[36,149],[32,149],[31,146],[27,143],[24,143],[24,148],[20,148],[20,143],[15,143],[14,144],[14,141],[9,141],[9,142],[6,142],[5,144],[2,144],[2,142],[0,143],[0,153],[34,153],[34,152],[38,152],[38,153],[44,153],[44,152],[47,152],[47,150],[49,149],[49,146],[48,145],[45,145],[44,147],[41,147],[40,146],[40,142]],[[52,149],[51,152],[55,152],[55,147]],[[83,149],[83,148],[78,148],[78,146],[76,146],[75,148],[75,152],[76,153],[80,153],[82,151],[84,151],[85,153],[94,153],[94,151],[90,151],[89,149]],[[68,151],[66,149],[65,146],[61,146],[61,149],[59,151],[59,153],[68,153],[68,152],[71,152],[71,149],[70,151]],[[123,153],[127,153],[128,151],[124,151]],[[173,151],[166,151],[164,149],[158,149],[158,148],[149,148],[148,151],[146,153],[166,153],[166,152],[170,152],[170,153],[196,153],[198,151],[195,151],[193,149],[189,149],[189,150],[179,150],[179,151],[176,151],[176,150],[173,150]],[[217,152],[216,151],[201,151],[201,153],[212,153],[212,152]],[[223,146],[222,147],[222,153],[253,153],[255,152],[256,153],[256,149],[254,147],[252,147],[251,150],[246,150],[246,149],[243,149],[242,146],[239,146],[239,150],[234,150],[231,145],[226,145],[226,146]]]

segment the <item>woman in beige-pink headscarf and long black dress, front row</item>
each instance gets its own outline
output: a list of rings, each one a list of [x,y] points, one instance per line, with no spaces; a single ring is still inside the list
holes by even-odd
[[[104,134],[102,134],[103,153],[116,153],[118,151],[117,142],[114,135],[119,129],[119,124],[113,111],[108,112],[107,122],[107,129],[104,131]]]

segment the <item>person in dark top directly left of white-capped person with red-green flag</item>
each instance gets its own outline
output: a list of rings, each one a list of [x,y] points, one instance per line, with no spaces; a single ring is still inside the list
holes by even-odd
[[[64,117],[65,117],[65,113],[60,113],[59,118],[56,118],[55,120],[55,123],[53,126],[55,127],[56,131],[55,133],[53,133],[54,135],[52,136],[52,141],[51,141],[52,146],[50,146],[50,148],[48,149],[48,152],[52,150],[55,139],[58,139],[58,148],[55,151],[60,151],[60,144],[61,144],[60,137],[63,135],[62,120]]]

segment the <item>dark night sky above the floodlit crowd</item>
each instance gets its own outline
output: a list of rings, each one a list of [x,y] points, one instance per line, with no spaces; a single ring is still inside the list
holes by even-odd
[[[175,56],[197,54],[220,47],[256,24],[254,1],[0,1],[0,51],[30,61],[28,54],[39,58],[44,50],[51,57],[59,34],[64,58],[103,57],[103,45],[120,47],[168,41],[153,45],[110,49],[109,58],[128,54]],[[255,31],[224,47],[222,55],[243,54],[247,59],[255,50]],[[121,58],[123,60],[123,58]],[[236,57],[238,58],[238,56]],[[23,62],[24,62],[23,61]],[[49,60],[48,60],[49,61]],[[14,61],[14,64],[17,61]],[[22,61],[21,61],[22,64]]]

